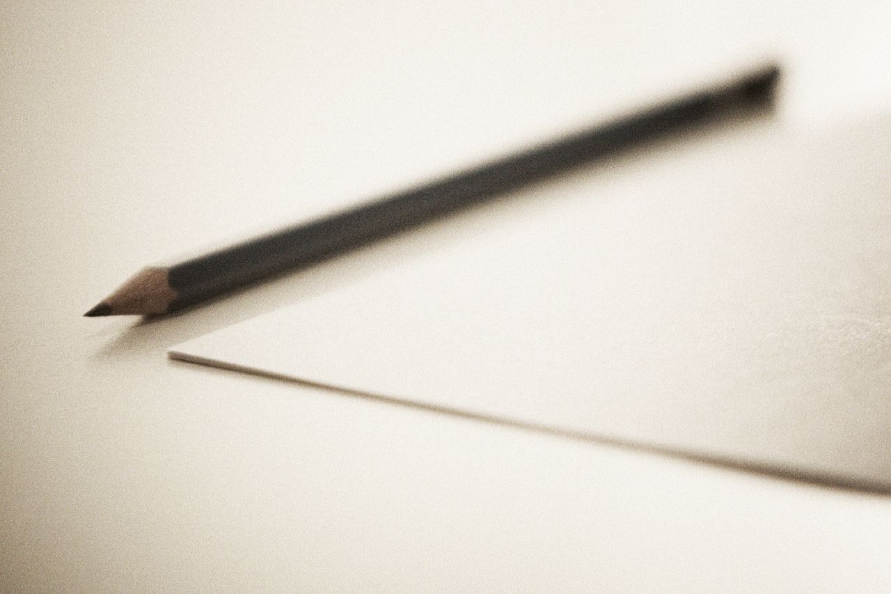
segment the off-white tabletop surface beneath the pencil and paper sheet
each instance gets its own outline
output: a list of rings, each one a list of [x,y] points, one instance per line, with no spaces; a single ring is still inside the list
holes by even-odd
[[[795,66],[785,125],[879,111],[881,4],[2,4],[0,590],[891,589],[887,497],[165,357],[392,246],[80,317],[144,263],[765,47]]]

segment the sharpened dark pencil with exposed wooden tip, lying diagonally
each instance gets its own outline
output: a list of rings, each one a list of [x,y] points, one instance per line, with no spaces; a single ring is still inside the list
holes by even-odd
[[[323,260],[520,186],[737,113],[772,104],[768,64],[630,117],[585,129],[281,232],[171,266],[144,268],[86,316],[158,315]]]

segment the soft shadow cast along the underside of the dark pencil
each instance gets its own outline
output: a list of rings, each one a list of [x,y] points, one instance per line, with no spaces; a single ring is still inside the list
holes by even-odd
[[[122,359],[157,352],[218,328],[305,301],[381,269],[413,260],[431,249],[485,234],[504,217],[535,216],[559,203],[561,184],[572,183],[580,177],[605,182],[610,177],[633,173],[635,167],[656,156],[671,158],[683,155],[692,147],[701,147],[703,143],[720,144],[733,129],[740,126],[749,130],[770,128],[772,121],[772,111],[740,111],[721,120],[707,121],[699,127],[625,147],[590,166],[568,169],[421,225],[396,229],[386,236],[354,246],[355,249],[240,287],[175,314],[142,318],[113,337],[94,353],[93,358]],[[591,199],[596,200],[596,195]]]

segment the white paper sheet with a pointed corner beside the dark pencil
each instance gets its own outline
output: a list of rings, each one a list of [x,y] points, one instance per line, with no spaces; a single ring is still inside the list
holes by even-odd
[[[891,488],[889,130],[579,172],[170,356]]]

